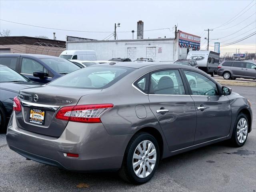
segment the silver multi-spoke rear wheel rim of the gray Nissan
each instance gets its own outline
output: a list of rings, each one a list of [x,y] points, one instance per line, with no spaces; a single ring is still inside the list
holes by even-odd
[[[132,159],[132,167],[136,176],[146,178],[152,173],[156,165],[156,155],[156,148],[151,141],[144,140],[138,144]]]

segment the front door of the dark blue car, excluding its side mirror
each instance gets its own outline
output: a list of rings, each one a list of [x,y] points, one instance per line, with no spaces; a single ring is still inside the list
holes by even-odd
[[[36,71],[44,72],[46,76],[44,78],[33,76],[33,72]],[[42,64],[39,62],[29,58],[22,58],[20,73],[35,82],[48,83],[51,81],[51,77],[48,77],[48,70],[44,68],[44,66],[42,66]]]

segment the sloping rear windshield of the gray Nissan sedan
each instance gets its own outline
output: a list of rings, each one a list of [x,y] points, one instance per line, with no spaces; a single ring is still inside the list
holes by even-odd
[[[112,67],[112,66],[90,66],[50,82],[49,86],[103,89],[111,86],[128,73],[133,68]]]

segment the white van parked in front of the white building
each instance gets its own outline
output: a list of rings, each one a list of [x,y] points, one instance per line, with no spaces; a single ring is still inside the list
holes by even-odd
[[[96,53],[94,50],[65,50],[60,54],[60,57],[64,59],[95,61]]]

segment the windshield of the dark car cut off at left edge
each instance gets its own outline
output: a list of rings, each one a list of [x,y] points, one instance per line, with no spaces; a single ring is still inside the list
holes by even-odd
[[[0,82],[24,82],[27,78],[20,75],[18,72],[6,67],[0,66]]]

